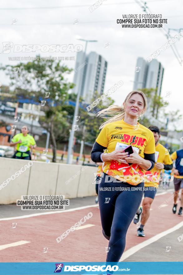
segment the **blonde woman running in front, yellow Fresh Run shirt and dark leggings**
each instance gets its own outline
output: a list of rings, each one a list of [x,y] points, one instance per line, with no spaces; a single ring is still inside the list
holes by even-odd
[[[135,90],[123,106],[99,112],[108,120],[99,128],[91,159],[104,162],[98,192],[102,233],[109,240],[107,262],[118,262],[123,254],[128,227],[142,200],[145,170],[154,167],[153,133],[137,122],[146,108],[146,96]]]

